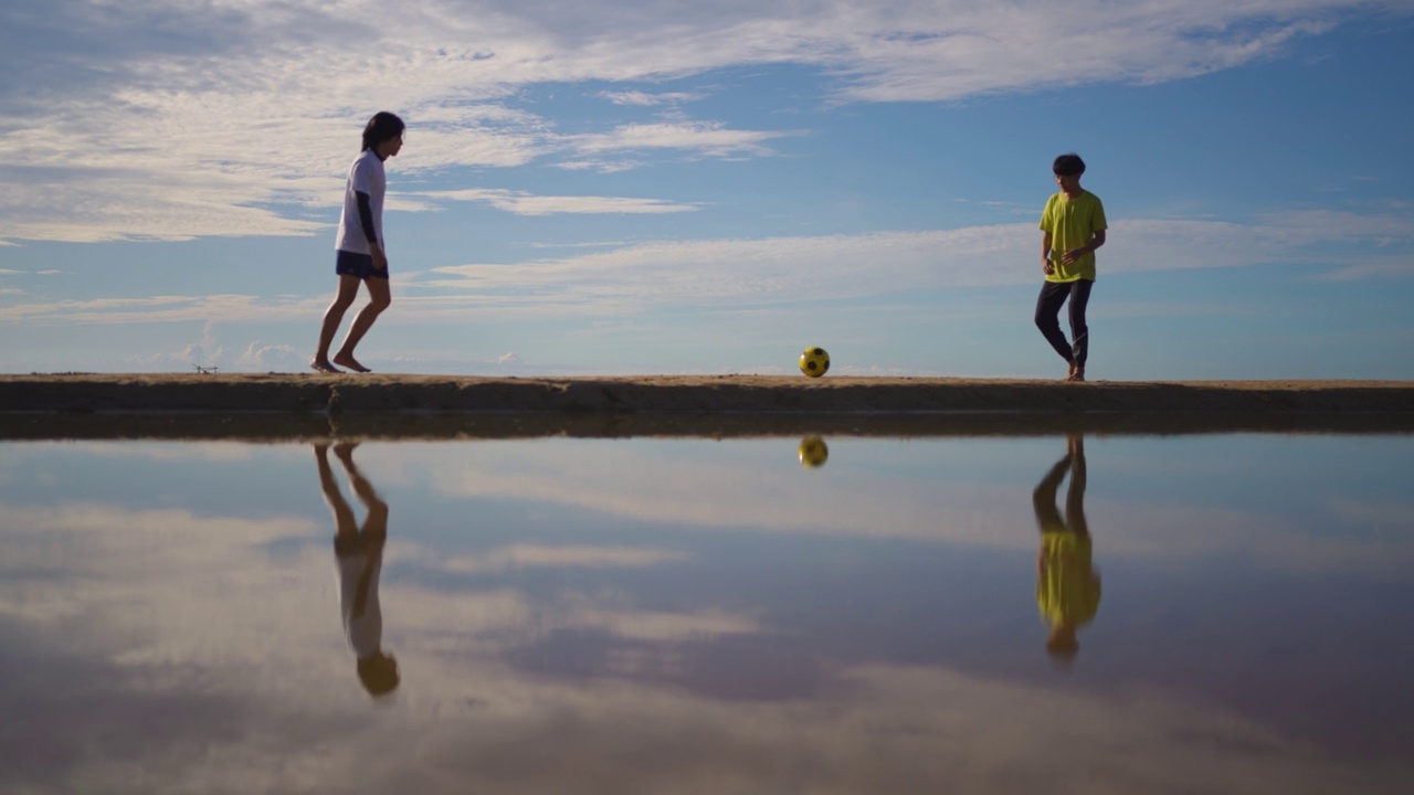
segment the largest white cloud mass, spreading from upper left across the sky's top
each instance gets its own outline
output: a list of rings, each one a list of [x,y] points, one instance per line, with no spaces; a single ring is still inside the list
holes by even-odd
[[[0,228],[7,239],[308,235],[337,207],[366,109],[403,112],[400,167],[437,174],[567,156],[626,168],[653,153],[759,157],[785,134],[713,120],[563,134],[525,86],[662,81],[793,64],[839,100],[952,100],[1085,82],[1157,82],[1270,57],[1366,0],[58,0],[0,28]],[[23,78],[21,78],[23,75]],[[682,92],[609,91],[612,102]],[[354,110],[361,109],[361,110]],[[605,161],[605,157],[609,161]]]

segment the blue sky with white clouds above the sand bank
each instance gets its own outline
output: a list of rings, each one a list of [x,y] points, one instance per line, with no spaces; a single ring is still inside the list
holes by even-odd
[[[308,372],[392,110],[376,372],[1060,378],[1077,151],[1092,379],[1414,379],[1411,74],[1411,0],[8,0],[0,372]]]

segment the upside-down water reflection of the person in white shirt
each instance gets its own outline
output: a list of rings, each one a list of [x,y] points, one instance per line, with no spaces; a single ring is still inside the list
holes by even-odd
[[[372,696],[380,696],[397,687],[397,659],[385,654],[383,611],[378,603],[378,576],[383,569],[383,545],[387,540],[387,504],[383,502],[372,484],[354,464],[354,444],[342,443],[334,447],[334,454],[344,464],[344,472],[354,485],[354,494],[368,508],[368,518],[359,528],[354,509],[339,491],[329,468],[328,446],[315,444],[315,461],[320,465],[320,485],[324,499],[334,511],[337,533],[334,536],[334,557],[339,571],[339,607],[344,613],[344,632],[349,648],[358,658],[358,678]]]

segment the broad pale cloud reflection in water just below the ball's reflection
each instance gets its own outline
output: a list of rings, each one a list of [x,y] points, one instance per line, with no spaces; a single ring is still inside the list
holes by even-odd
[[[916,539],[1029,549],[1031,533],[1007,532],[1025,526],[1025,515],[1011,521],[995,504],[1005,494],[976,482],[928,484],[878,478],[848,470],[850,488],[836,488],[841,468],[802,481],[795,443],[738,446],[738,460],[704,463],[674,458],[673,447],[635,451],[626,446],[585,441],[574,455],[539,450],[486,451],[477,461],[436,470],[436,485],[455,497],[505,495],[532,502],[570,505],[575,511],[622,516],[655,526],[741,529],[783,535],[871,539]],[[771,448],[779,458],[764,454]],[[595,461],[584,467],[585,460]],[[812,472],[813,474],[813,472]],[[633,484],[625,489],[614,484]],[[730,502],[721,495],[731,494]],[[782,499],[782,494],[795,495]],[[1015,506],[1031,509],[1029,502]]]

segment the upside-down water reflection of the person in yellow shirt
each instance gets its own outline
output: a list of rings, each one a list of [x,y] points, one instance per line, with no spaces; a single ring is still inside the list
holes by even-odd
[[[1056,509],[1056,491],[1070,471],[1065,518]],[[1036,605],[1051,625],[1046,651],[1069,662],[1080,651],[1075,632],[1094,618],[1100,607],[1100,574],[1090,560],[1090,528],[1085,523],[1085,443],[1072,436],[1063,458],[1056,461],[1031,495],[1041,528],[1036,553]]]

